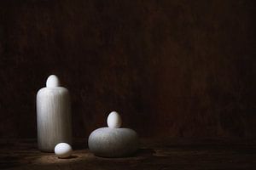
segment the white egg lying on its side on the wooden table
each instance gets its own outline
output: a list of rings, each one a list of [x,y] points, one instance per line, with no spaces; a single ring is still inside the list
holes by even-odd
[[[55,145],[55,155],[60,158],[67,158],[72,154],[72,147],[67,143],[60,143]]]

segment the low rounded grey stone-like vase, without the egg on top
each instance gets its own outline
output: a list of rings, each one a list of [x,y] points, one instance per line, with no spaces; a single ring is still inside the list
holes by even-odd
[[[137,133],[130,128],[101,127],[90,133],[91,152],[102,157],[131,156],[138,149]]]

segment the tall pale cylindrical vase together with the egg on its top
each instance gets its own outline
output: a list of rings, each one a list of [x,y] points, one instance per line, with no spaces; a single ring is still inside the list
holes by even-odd
[[[37,94],[38,149],[54,152],[61,142],[72,144],[72,119],[67,88],[55,75],[48,77],[46,88]]]

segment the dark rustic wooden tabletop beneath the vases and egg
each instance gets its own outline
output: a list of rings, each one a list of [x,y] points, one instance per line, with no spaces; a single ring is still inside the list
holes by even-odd
[[[134,156],[102,158],[75,139],[73,155],[58,159],[37,149],[36,139],[1,139],[0,169],[256,169],[256,140],[141,139]]]

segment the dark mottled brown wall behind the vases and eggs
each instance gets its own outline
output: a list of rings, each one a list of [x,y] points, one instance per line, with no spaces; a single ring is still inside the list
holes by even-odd
[[[35,138],[50,74],[74,137],[119,111],[142,137],[256,137],[253,1],[0,2],[0,137]]]

